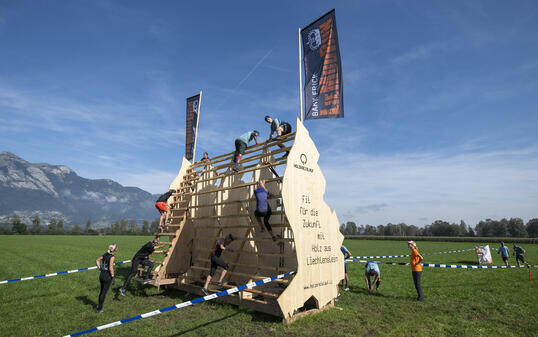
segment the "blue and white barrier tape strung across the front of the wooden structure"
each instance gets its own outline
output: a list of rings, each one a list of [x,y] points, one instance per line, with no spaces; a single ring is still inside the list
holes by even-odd
[[[84,331],[75,332],[75,333],[72,333],[70,335],[66,335],[64,337],[85,335],[85,334],[90,333],[90,332],[104,330],[104,329],[112,328],[114,326],[118,326],[118,325],[121,325],[121,324],[136,321],[136,320],[139,320],[139,319],[142,319],[142,318],[148,318],[148,317],[151,317],[151,316],[159,315],[159,314],[162,314],[164,312],[171,311],[171,310],[174,310],[174,309],[181,309],[181,308],[184,308],[184,307],[188,307],[188,306],[196,304],[196,303],[202,303],[202,302],[205,302],[205,301],[210,301],[210,300],[215,299],[217,297],[230,295],[230,294],[233,294],[233,293],[236,293],[238,291],[245,290],[245,289],[251,289],[251,288],[254,288],[254,287],[259,286],[261,284],[269,283],[269,282],[272,282],[272,281],[274,281],[276,279],[280,279],[280,278],[290,276],[293,273],[295,273],[295,272],[290,271],[289,273],[280,274],[280,275],[269,277],[269,278],[259,280],[259,281],[256,281],[256,282],[243,284],[241,286],[238,286],[238,287],[235,287],[235,288],[232,288],[232,289],[224,290],[224,291],[221,291],[221,292],[218,292],[218,293],[215,293],[215,294],[211,294],[211,295],[207,295],[207,296],[204,296],[204,297],[199,297],[199,298],[196,298],[196,299],[191,300],[191,301],[175,304],[175,305],[172,305],[172,306],[169,306],[169,307],[166,307],[166,308],[162,308],[162,309],[158,309],[158,310],[155,310],[155,311],[147,312],[145,314],[141,314],[141,315],[129,317],[129,318],[126,318],[126,319],[122,319],[121,321],[116,321],[116,322],[113,322],[113,323],[101,325],[101,326],[98,326],[97,328],[92,328],[92,329],[88,329],[88,330],[84,330]]]

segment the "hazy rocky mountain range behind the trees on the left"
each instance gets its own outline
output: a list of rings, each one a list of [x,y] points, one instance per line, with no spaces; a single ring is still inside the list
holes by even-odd
[[[122,218],[137,222],[158,217],[158,196],[110,179],[86,179],[63,165],[29,163],[10,152],[0,153],[0,222],[17,215],[31,224],[63,219],[66,225],[91,220],[103,227]]]

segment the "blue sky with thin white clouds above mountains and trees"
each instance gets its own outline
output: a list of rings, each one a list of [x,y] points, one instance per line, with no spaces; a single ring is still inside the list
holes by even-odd
[[[0,1],[0,151],[164,191],[298,114],[297,29],[336,8],[344,119],[307,121],[341,222],[538,217],[536,1]],[[199,157],[199,155],[197,155]]]

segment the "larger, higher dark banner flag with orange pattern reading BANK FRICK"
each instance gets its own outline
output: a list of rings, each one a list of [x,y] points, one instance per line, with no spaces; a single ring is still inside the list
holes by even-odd
[[[301,30],[305,120],[344,117],[342,62],[334,9]]]

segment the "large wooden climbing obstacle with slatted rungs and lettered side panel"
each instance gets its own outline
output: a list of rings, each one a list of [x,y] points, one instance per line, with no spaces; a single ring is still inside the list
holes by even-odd
[[[194,294],[209,273],[210,253],[219,238],[237,239],[222,258],[229,264],[229,285],[210,284],[220,291],[277,274],[296,274],[222,301],[283,317],[290,322],[306,313],[334,305],[344,278],[343,235],[338,218],[323,200],[325,178],[319,153],[297,119],[295,133],[248,147],[239,171],[232,171],[233,153],[191,164],[185,158],[170,184],[177,193],[168,200],[168,253],[151,284],[174,285]],[[233,142],[230,142],[233,144]],[[283,174],[278,174],[283,172]],[[279,238],[261,232],[254,216],[256,183],[264,179],[272,196],[270,224]],[[218,280],[221,269],[213,280]]]

